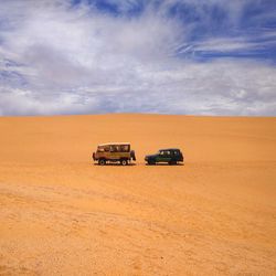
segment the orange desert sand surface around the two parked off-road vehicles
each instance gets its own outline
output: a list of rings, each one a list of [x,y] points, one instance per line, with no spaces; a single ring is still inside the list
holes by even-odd
[[[0,275],[276,275],[276,118],[1,117]]]

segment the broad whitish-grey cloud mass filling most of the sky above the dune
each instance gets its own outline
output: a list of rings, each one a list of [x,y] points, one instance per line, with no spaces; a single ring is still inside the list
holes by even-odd
[[[234,2],[232,9],[242,9]],[[127,10],[137,1],[117,3]],[[178,49],[253,47],[246,40],[209,39],[190,45],[189,25],[150,8],[127,18],[99,13],[85,3],[14,0],[4,2],[0,18],[6,19],[0,32],[0,115],[276,114],[274,66],[231,59],[199,63],[174,54]],[[13,63],[7,66],[9,61]]]

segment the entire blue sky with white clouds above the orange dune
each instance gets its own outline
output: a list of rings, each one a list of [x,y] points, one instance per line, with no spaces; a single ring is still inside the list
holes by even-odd
[[[276,116],[276,0],[0,0],[0,116]]]

